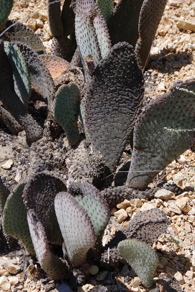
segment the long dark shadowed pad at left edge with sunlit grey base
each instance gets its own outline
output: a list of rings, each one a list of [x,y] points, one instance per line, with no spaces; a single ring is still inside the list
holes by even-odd
[[[7,55],[4,52],[3,41],[0,40],[0,101],[6,110],[24,127],[26,132],[26,141],[30,145],[32,142],[42,137],[42,128],[28,113],[20,98],[14,91],[13,73],[8,64]]]

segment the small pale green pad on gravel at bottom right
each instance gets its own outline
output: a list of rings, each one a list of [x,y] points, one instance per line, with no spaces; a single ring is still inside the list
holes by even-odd
[[[147,243],[135,239],[122,240],[118,244],[118,250],[134,269],[143,285],[151,287],[158,264],[158,256],[155,251]]]

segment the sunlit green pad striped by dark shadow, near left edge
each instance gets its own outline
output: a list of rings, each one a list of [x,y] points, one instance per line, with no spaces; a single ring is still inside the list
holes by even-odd
[[[4,51],[12,67],[15,92],[20,97],[21,102],[27,107],[31,95],[31,80],[26,62],[17,45],[5,41]]]

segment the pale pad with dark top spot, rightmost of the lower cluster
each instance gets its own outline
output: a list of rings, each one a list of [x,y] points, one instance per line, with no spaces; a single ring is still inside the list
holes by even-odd
[[[84,208],[94,226],[98,244],[109,221],[109,208],[98,189],[90,183],[72,182],[68,192]]]

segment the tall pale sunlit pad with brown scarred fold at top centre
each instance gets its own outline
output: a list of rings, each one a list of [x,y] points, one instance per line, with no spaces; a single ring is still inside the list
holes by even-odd
[[[111,49],[111,42],[104,18],[94,0],[78,0],[75,16],[75,34],[85,77],[89,80],[86,57],[94,57],[96,66]]]

